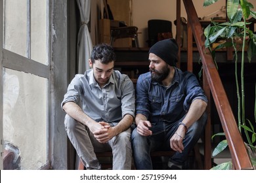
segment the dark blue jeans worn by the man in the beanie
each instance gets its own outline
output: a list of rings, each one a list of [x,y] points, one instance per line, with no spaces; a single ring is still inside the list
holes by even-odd
[[[170,139],[179,127],[179,122],[182,122],[183,118],[175,123],[163,121],[158,122],[157,124],[152,124],[151,130],[153,133],[151,136],[147,137],[139,135],[137,128],[133,130],[133,133],[131,134],[131,143],[133,146],[133,159],[136,169],[152,169],[150,152],[156,150],[171,150]],[[183,140],[184,150],[182,153],[175,152],[170,161],[177,165],[184,164],[184,161],[188,158],[190,150],[194,148],[194,145],[200,139],[206,120],[207,114],[203,113],[201,118],[188,128],[188,132]]]

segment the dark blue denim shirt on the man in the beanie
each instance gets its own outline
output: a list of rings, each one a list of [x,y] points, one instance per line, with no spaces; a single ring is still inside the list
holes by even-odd
[[[136,114],[143,114],[152,123],[176,122],[181,119],[194,99],[207,103],[196,76],[175,67],[171,86],[151,80],[151,73],[139,76],[136,87]]]

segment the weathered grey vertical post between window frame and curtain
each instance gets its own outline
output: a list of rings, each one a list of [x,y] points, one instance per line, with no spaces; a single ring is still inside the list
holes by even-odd
[[[51,159],[53,169],[67,169],[67,135],[64,129],[65,113],[60,103],[68,86],[68,3],[67,0],[50,2],[50,35],[52,84],[51,92],[51,122],[52,137]]]

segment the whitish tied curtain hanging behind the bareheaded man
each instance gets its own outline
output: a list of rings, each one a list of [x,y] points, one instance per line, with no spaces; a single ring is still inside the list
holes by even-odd
[[[89,69],[88,60],[91,57],[91,50],[93,50],[87,25],[90,20],[91,0],[77,0],[77,5],[82,23],[77,37],[78,73],[83,74]]]

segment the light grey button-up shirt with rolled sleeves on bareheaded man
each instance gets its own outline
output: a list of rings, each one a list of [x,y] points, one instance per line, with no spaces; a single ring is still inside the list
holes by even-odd
[[[116,125],[125,114],[135,117],[135,90],[127,75],[114,71],[110,80],[100,88],[93,76],[93,69],[85,75],[75,75],[64,95],[64,103],[73,101],[96,122],[104,121]]]

